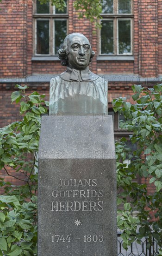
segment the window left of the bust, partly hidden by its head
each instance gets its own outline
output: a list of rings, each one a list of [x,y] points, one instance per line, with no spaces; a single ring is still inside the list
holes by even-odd
[[[49,2],[34,5],[34,55],[56,55],[67,35],[67,7],[58,10]]]

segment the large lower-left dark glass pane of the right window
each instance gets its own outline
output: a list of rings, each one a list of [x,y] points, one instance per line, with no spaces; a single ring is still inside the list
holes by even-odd
[[[114,54],[113,20],[102,20],[101,24],[101,54]]]

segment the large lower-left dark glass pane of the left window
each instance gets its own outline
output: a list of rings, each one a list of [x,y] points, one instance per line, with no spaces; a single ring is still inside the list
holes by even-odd
[[[49,54],[49,20],[37,20],[37,54]]]

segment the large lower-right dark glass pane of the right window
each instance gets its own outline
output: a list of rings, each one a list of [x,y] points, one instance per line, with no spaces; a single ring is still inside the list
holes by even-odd
[[[118,52],[131,53],[131,20],[118,20]]]

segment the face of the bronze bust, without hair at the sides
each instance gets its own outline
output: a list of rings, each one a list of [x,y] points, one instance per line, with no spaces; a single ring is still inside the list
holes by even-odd
[[[89,64],[91,47],[87,38],[83,35],[70,35],[68,40],[69,67],[83,70]]]

